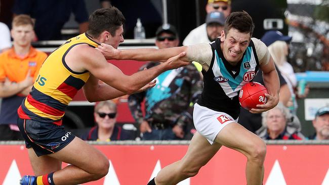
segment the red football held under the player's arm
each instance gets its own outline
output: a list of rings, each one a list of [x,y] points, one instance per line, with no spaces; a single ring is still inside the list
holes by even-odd
[[[257,108],[256,105],[265,104],[265,93],[267,93],[267,89],[261,83],[249,82],[244,84],[239,94],[241,107],[246,110],[251,110]]]

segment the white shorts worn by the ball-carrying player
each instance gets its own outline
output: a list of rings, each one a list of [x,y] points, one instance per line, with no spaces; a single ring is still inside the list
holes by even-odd
[[[219,131],[227,124],[237,122],[225,112],[218,112],[207,107],[194,104],[193,122],[196,130],[212,145]]]

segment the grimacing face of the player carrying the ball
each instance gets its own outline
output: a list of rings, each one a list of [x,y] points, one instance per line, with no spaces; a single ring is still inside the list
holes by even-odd
[[[221,32],[221,48],[225,59],[236,64],[243,57],[243,53],[249,45],[251,39],[250,33],[241,33],[237,29],[231,28],[228,33]]]

